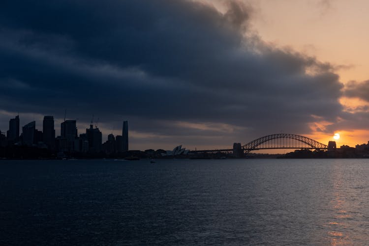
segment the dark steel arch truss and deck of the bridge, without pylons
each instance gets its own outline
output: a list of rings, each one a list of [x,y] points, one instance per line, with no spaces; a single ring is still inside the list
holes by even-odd
[[[328,149],[327,145],[325,145],[323,143],[320,143],[318,141],[315,141],[314,139],[304,137],[304,136],[300,136],[300,135],[285,134],[285,133],[272,134],[272,135],[268,135],[268,136],[264,136],[264,137],[259,137],[255,140],[252,140],[251,142],[246,143],[245,145],[242,146],[242,148],[243,148],[245,154],[249,153],[252,150],[259,150],[259,149],[286,149],[286,148],[300,149],[301,148],[301,147],[297,147],[297,146],[289,146],[289,147],[280,147],[280,146],[277,147],[277,146],[275,146],[275,147],[268,147],[268,148],[258,148],[263,143],[271,141],[273,139],[278,139],[278,138],[289,138],[289,139],[294,139],[294,140],[300,141],[302,143],[305,143],[309,146],[305,149]]]

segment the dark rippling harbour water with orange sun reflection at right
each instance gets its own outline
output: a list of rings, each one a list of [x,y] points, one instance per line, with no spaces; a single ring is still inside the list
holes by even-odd
[[[368,245],[369,160],[0,161],[0,245]]]

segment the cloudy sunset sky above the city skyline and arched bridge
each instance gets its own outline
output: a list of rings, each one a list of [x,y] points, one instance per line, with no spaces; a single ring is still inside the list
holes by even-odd
[[[369,140],[362,0],[4,0],[0,130],[66,110],[130,149]],[[98,119],[98,123],[97,123]]]

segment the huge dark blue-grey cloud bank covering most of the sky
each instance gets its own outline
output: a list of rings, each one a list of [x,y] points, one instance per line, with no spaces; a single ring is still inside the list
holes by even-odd
[[[128,118],[137,132],[177,136],[173,145],[307,134],[314,116],[335,121],[333,67],[265,45],[248,32],[251,11],[239,1],[222,14],[186,0],[5,0],[0,108]]]

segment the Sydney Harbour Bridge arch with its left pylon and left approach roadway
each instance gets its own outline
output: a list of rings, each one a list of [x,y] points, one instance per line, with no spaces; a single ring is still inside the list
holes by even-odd
[[[256,138],[244,145],[234,143],[233,149],[218,149],[218,150],[197,150],[193,152],[223,152],[233,151],[242,152],[244,154],[253,150],[264,149],[315,149],[325,150],[328,145],[315,141],[314,139],[295,134],[272,134],[264,137]]]

